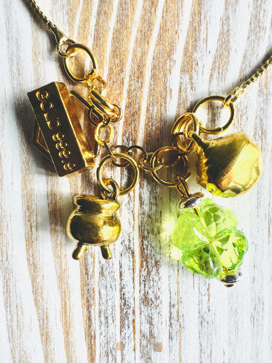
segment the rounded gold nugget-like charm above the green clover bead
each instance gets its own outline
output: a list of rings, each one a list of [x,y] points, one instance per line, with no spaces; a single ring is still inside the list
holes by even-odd
[[[197,183],[212,194],[235,197],[245,193],[262,173],[262,154],[257,144],[243,132],[204,140],[194,131]]]

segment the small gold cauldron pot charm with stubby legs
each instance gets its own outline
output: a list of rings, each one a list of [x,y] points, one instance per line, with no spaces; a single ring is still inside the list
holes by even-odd
[[[78,245],[72,257],[80,259],[89,245],[95,245],[100,246],[105,259],[110,259],[109,245],[116,241],[121,231],[121,222],[115,213],[120,203],[88,195],[78,195],[73,202],[76,209],[68,218],[67,234],[78,241]]]

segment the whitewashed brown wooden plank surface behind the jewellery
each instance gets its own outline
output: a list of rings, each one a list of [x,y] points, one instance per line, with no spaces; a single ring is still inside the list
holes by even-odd
[[[166,145],[177,116],[227,95],[271,54],[269,0],[38,4],[96,55],[107,98],[124,110],[115,144]],[[32,147],[27,92],[53,81],[87,90],[64,74],[52,35],[22,0],[0,1],[0,14],[0,361],[271,362],[272,71],[236,102],[231,130],[259,143],[263,175],[246,195],[214,198],[236,211],[249,238],[239,283],[226,288],[182,267],[171,245],[179,195],[146,173],[120,198],[113,258],[93,247],[79,262],[66,219],[73,196],[97,195],[95,173],[59,178]],[[83,113],[81,121],[91,141]],[[123,185],[120,170],[107,171]],[[189,185],[199,190],[193,178]]]

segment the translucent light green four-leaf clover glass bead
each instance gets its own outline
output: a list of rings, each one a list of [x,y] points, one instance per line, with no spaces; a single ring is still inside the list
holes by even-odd
[[[230,273],[237,275],[248,250],[248,240],[237,225],[231,209],[207,198],[199,208],[181,211],[172,241],[183,251],[182,262],[188,270],[225,280]]]

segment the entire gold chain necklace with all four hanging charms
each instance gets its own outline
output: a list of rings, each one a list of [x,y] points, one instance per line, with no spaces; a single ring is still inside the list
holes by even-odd
[[[107,155],[96,170],[100,196],[78,195],[74,198],[75,210],[67,222],[69,237],[77,241],[73,258],[80,259],[90,245],[100,246],[105,259],[112,257],[109,245],[117,240],[121,224],[116,214],[119,196],[134,190],[139,181],[139,171],[150,172],[153,178],[167,187],[174,187],[181,195],[180,216],[172,234],[172,242],[182,250],[182,262],[193,273],[206,278],[220,279],[232,286],[240,274],[239,267],[248,249],[248,240],[237,230],[235,213],[204,199],[201,192],[191,193],[187,185],[190,177],[187,155],[197,155],[196,181],[215,196],[235,197],[249,190],[262,172],[262,156],[257,144],[243,132],[206,140],[200,134],[217,135],[226,131],[234,120],[234,103],[238,97],[272,64],[272,56],[247,81],[236,87],[227,97],[209,96],[181,115],[172,127],[169,146],[147,152],[140,146],[112,146],[113,126],[122,117],[122,110],[103,96],[105,80],[98,73],[93,52],[86,46],[67,38],[37,6],[27,0],[42,23],[55,35],[57,51],[63,58],[64,69],[76,83],[86,84],[87,98],[77,91],[68,91],[63,83],[53,82],[28,93],[35,113],[33,143],[50,159],[59,176],[69,176],[91,169],[101,147]],[[90,57],[92,68],[81,78],[71,69],[71,58],[77,59],[78,51]],[[95,145],[89,147],[82,131],[72,99],[88,110],[89,122],[94,126]],[[224,126],[207,129],[197,116],[202,105],[221,102],[229,108],[230,118]],[[140,156],[139,156],[140,153]],[[136,154],[138,155],[136,159]],[[122,162],[120,162],[120,160]],[[166,161],[167,160],[167,161]],[[116,167],[130,166],[133,171],[131,185],[120,190],[115,180],[103,179],[107,163]],[[163,168],[178,165],[181,172],[172,180],[163,179]]]

